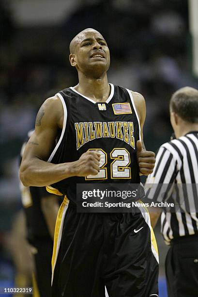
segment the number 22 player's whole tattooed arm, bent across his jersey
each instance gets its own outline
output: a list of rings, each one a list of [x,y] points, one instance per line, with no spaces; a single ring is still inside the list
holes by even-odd
[[[87,151],[79,160],[52,164],[47,160],[55,147],[59,129],[63,127],[63,107],[58,96],[46,99],[41,106],[20,166],[20,179],[24,186],[46,186],[72,176],[96,175],[100,153]]]

